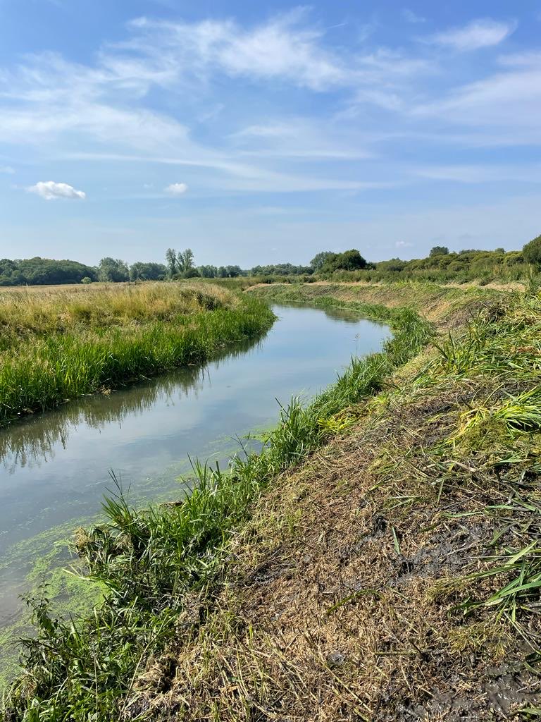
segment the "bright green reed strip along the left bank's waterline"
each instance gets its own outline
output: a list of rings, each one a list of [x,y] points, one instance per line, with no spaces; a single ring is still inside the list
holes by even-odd
[[[193,284],[186,289],[198,295]],[[234,308],[220,308],[211,291],[208,284],[211,307],[174,321],[113,326],[92,338],[79,329],[22,340],[11,355],[4,352],[0,366],[0,428],[82,396],[203,365],[236,342],[262,336],[276,321],[255,297],[227,290]]]

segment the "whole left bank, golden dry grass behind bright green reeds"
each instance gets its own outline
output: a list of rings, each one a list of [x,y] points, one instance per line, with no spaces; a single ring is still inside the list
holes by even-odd
[[[199,364],[272,323],[255,297],[211,284],[1,294],[0,423]]]

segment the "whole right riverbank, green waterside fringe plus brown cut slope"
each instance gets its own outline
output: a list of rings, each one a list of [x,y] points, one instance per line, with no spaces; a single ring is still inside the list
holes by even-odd
[[[535,717],[540,297],[313,289],[266,297],[394,338],[182,504],[109,500],[77,538],[105,604],[33,603],[5,721]]]

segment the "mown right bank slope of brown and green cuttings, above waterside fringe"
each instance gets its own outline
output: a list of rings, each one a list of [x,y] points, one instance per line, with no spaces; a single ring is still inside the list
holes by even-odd
[[[464,328],[338,414],[335,439],[260,498],[134,713],[536,716],[541,300],[473,300]]]

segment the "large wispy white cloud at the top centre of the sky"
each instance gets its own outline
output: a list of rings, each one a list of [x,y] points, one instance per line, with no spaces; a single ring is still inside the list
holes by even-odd
[[[307,9],[296,8],[267,22],[243,27],[232,20],[163,22],[139,18],[131,23],[136,33],[127,43],[115,45],[107,66],[133,66],[133,53],[144,56],[143,77],[163,82],[193,81],[201,85],[211,74],[245,77],[251,81],[286,82],[323,92],[359,84],[390,82],[392,77],[430,69],[424,61],[412,65],[399,53],[382,48],[363,56],[356,50],[325,42],[325,30],[307,22]],[[122,51],[130,56],[119,57]],[[150,70],[149,70],[150,69]],[[134,78],[139,74],[132,73]]]

